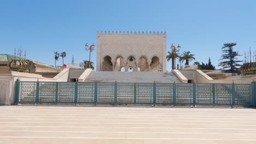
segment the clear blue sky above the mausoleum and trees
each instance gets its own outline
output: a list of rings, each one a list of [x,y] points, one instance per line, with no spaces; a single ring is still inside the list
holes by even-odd
[[[89,59],[84,44],[96,44],[97,31],[163,31],[166,51],[180,44],[181,52],[190,51],[200,63],[211,57],[216,67],[224,43],[237,43],[242,55],[250,46],[256,49],[254,0],[1,0],[0,20],[0,53],[14,55],[22,44],[28,59],[49,65],[55,51],[67,53],[65,63],[72,56],[75,63]],[[96,50],[91,54],[96,63]]]

